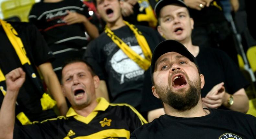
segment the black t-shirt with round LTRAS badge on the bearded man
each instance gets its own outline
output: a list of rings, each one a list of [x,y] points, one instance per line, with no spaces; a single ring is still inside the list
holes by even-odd
[[[240,112],[209,109],[202,117],[162,115],[136,129],[130,139],[255,139],[256,118]]]

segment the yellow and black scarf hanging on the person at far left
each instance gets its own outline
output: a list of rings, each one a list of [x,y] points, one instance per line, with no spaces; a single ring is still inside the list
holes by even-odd
[[[15,49],[15,51],[17,53],[17,56],[22,64],[23,70],[25,70],[26,74],[31,78],[32,82],[37,87],[39,93],[42,94],[42,98],[40,99],[42,110],[51,109],[56,104],[56,102],[54,100],[52,100],[52,98],[44,92],[44,89],[41,85],[40,79],[37,78],[35,72],[33,71],[32,67],[30,66],[31,63],[27,57],[27,53],[23,46],[23,43],[22,43],[20,37],[18,37],[18,33],[12,27],[12,25],[7,23],[6,21],[3,21],[0,19],[0,23],[1,23],[8,39],[10,40],[13,48]],[[5,80],[6,80],[5,76],[2,72],[2,70],[0,69],[0,83]],[[3,95],[6,94],[5,88],[6,88],[5,82],[2,82],[0,85],[0,90],[3,93]],[[16,104],[18,105],[17,102],[16,102]],[[24,112],[20,112],[19,114],[17,114],[16,117],[23,125],[31,124],[31,122],[29,121],[27,116],[24,114]]]

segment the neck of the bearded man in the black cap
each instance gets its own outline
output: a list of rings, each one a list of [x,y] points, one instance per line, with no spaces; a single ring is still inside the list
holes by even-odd
[[[199,100],[199,102],[195,107],[187,111],[179,111],[177,109],[172,108],[166,103],[164,103],[164,109],[166,114],[168,115],[175,116],[175,117],[185,117],[185,118],[202,117],[210,113],[208,110],[203,109],[201,99]]]

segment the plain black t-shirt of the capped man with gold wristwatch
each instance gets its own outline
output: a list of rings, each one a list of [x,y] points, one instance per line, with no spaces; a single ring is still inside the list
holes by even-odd
[[[226,92],[229,94],[234,94],[249,84],[234,61],[219,49],[200,47],[196,60],[201,74],[204,75],[205,84],[201,90],[202,97],[205,97],[216,84],[221,82],[224,82]],[[150,78],[150,71],[146,71],[141,102],[141,111],[146,112],[163,107],[161,101],[151,91]],[[221,106],[219,109],[227,108]]]

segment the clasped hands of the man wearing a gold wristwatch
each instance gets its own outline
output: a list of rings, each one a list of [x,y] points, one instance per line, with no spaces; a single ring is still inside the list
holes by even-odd
[[[207,93],[205,98],[202,98],[204,107],[216,109],[223,104],[226,93],[223,85],[224,82],[215,85],[212,90]]]

